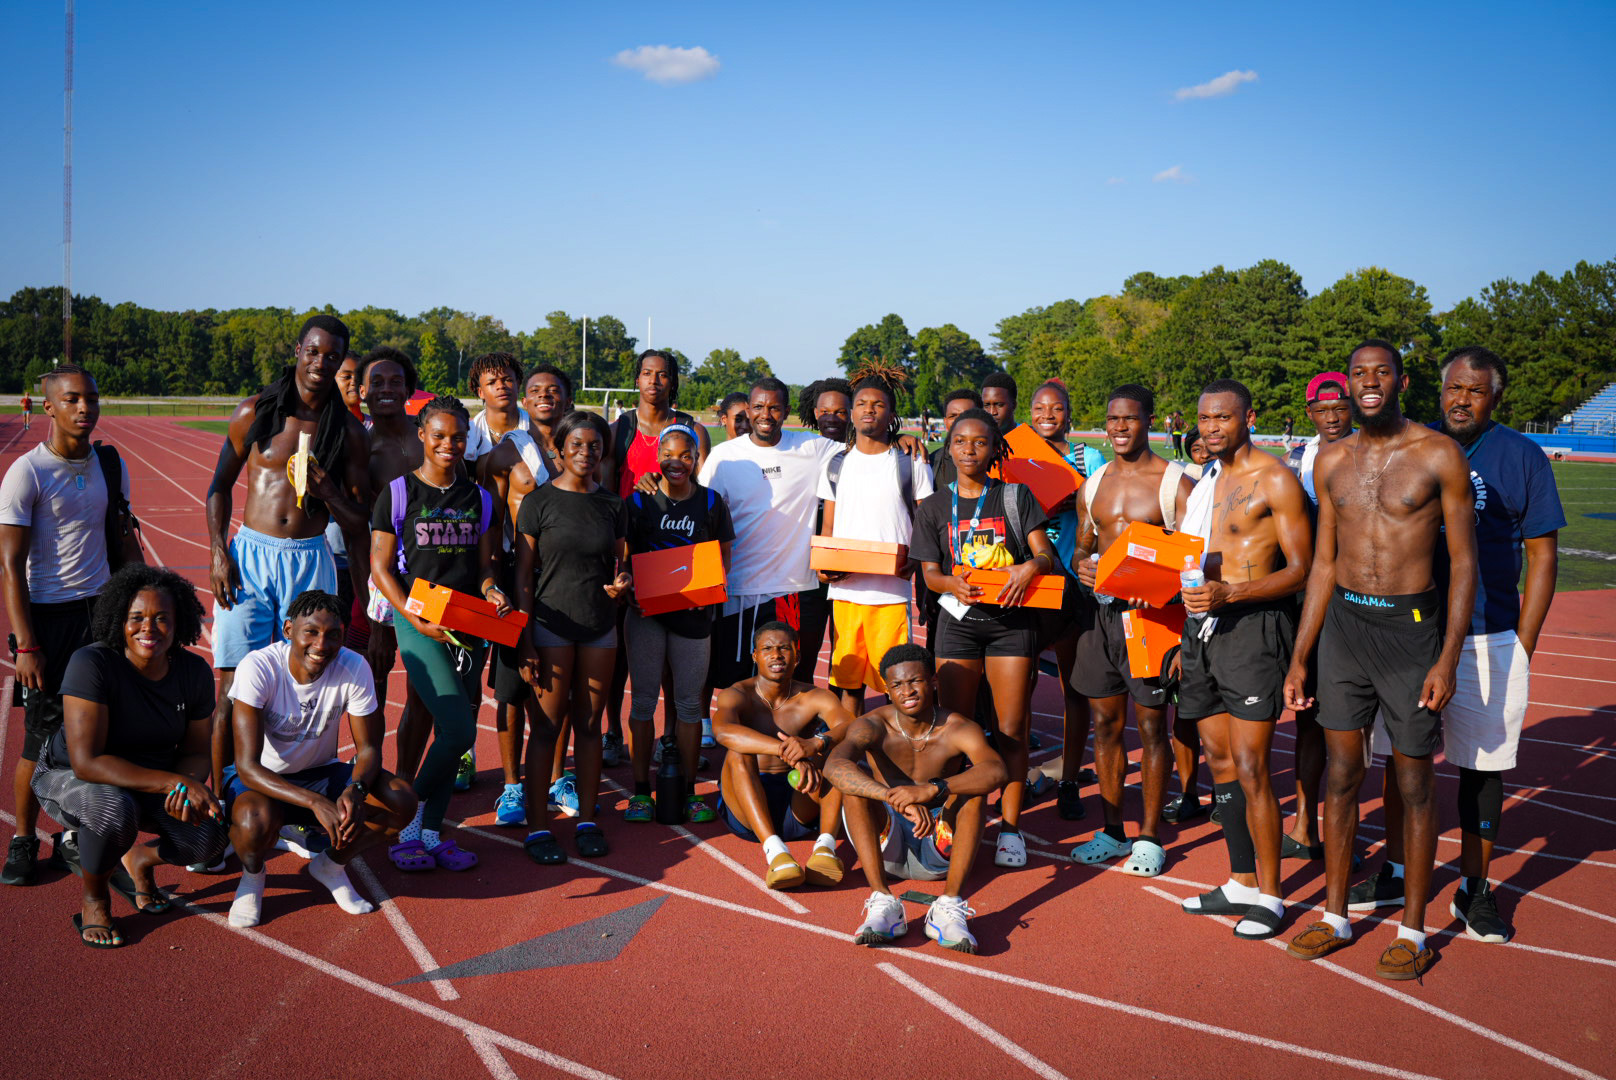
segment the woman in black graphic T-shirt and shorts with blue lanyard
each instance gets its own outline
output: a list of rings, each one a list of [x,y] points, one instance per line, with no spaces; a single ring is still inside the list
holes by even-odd
[[[966,409],[955,417],[947,448],[958,475],[915,513],[910,558],[921,564],[926,587],[939,593],[942,605],[937,640],[931,642],[937,656],[937,700],[944,708],[971,716],[976,687],[983,674],[987,676],[999,713],[997,747],[1010,771],[994,863],[1025,867],[1026,842],[1018,826],[1026,795],[1026,732],[1039,619],[1020,605],[1033,577],[1055,572],[1057,556],[1044,532],[1047,516],[1033,491],[989,477],[1008,446],[987,412]],[[957,564],[981,566],[971,559],[997,545],[1004,545],[1012,559],[1004,567],[1010,582],[997,597],[953,574]]]

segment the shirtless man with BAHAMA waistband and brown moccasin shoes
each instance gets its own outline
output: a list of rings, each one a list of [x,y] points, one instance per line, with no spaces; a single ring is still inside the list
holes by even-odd
[[[1441,710],[1453,697],[1475,600],[1475,491],[1459,445],[1404,419],[1398,394],[1409,380],[1396,348],[1366,341],[1353,351],[1346,377],[1357,432],[1322,448],[1314,466],[1319,559],[1285,676],[1290,707],[1314,705],[1306,681],[1319,647],[1319,726],[1328,753],[1325,915],[1291,941],[1290,952],[1314,960],[1351,941],[1346,891],[1357,789],[1380,711],[1404,807],[1406,899],[1403,926],[1375,975],[1409,980],[1435,960],[1425,946],[1437,857],[1432,753],[1441,745]],[[1446,603],[1435,576],[1441,543],[1451,564]]]

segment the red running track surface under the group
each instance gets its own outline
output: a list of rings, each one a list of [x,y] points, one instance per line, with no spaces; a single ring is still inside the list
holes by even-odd
[[[0,420],[0,467],[42,435],[23,438],[16,425]],[[100,433],[129,461],[154,556],[205,585],[202,500],[217,437],[128,417],[102,420]],[[1304,964],[1283,947],[1236,941],[1225,923],[1180,913],[1180,897],[1227,876],[1220,836],[1204,820],[1165,826],[1168,865],[1155,881],[1070,863],[1065,852],[1099,816],[1092,787],[1083,823],[1062,821],[1052,802],[1026,813],[1025,870],[997,871],[984,849],[970,884],[976,957],[928,943],[918,904],[900,946],[853,947],[866,896],[856,871],[837,889],[768,892],[760,849],[718,825],[625,826],[614,823],[614,805],[603,813],[609,857],[538,868],[519,847],[520,829],[493,826],[499,771],[485,707],[478,784],[451,808],[462,821],[456,839],[482,855],[477,870],[401,875],[372,855],[356,878],[383,910],[356,918],[323,901],[297,857],[281,854],[270,862],[265,923],[238,931],[223,920],[233,873],[162,868],[160,884],[186,907],[139,917],[115,899],[129,939],[115,952],[74,941],[78,884],[45,871],[34,888],[0,892],[10,1006],[0,1046],[21,1075],[40,1078],[1610,1075],[1616,634],[1605,605],[1613,598],[1558,597],[1534,661],[1534,705],[1493,863],[1516,925],[1508,946],[1471,941],[1448,917],[1454,779],[1438,766],[1448,831],[1429,930],[1440,962],[1424,983],[1372,975],[1393,936],[1374,918],[1356,920],[1353,947]],[[388,686],[393,721],[401,679],[396,673]],[[1034,708],[1049,760],[1060,734],[1052,681]],[[6,774],[19,744],[13,711],[0,718]],[[1291,786],[1290,744],[1286,719],[1275,742],[1280,791]],[[386,757],[391,763],[391,749]],[[629,783],[627,768],[609,776]],[[1378,779],[1372,774],[1364,794],[1370,857],[1382,837]],[[10,787],[0,799],[10,808]],[[1136,786],[1126,810],[1138,821]],[[845,844],[844,855],[852,863]],[[1288,925],[1299,928],[1322,901],[1322,871],[1290,862],[1285,888]],[[401,985],[658,897],[666,902],[614,959]]]

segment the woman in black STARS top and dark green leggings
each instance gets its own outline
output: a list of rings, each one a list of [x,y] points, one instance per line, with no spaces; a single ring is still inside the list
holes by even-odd
[[[438,396],[417,417],[420,467],[377,493],[370,576],[393,605],[393,631],[410,687],[431,713],[431,749],[415,773],[420,805],[388,859],[399,870],[470,870],[477,855],[440,836],[461,755],[477,742],[485,642],[446,631],[409,610],[417,579],[482,597],[504,616],[511,601],[494,571],[499,501],[461,469],[472,417],[459,398]]]

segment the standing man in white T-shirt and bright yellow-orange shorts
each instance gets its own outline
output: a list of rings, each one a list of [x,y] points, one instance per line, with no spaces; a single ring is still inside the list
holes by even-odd
[[[931,495],[931,466],[900,453],[897,396],[879,378],[853,385],[853,445],[839,451],[819,477],[824,522],[819,535],[908,546],[915,504]],[[913,564],[910,564],[913,566]],[[831,689],[855,716],[865,711],[865,687],[887,692],[881,658],[910,642],[910,577],[905,574],[821,572],[831,582],[835,647]]]

